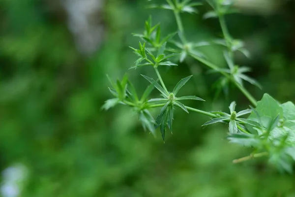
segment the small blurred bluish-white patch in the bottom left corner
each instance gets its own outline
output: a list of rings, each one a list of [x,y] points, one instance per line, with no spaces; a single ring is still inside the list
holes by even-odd
[[[2,171],[0,194],[2,197],[20,197],[28,169],[23,164],[12,165]]]

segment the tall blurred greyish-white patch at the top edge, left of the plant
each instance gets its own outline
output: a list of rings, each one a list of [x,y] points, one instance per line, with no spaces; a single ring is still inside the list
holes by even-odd
[[[78,50],[86,55],[94,53],[104,32],[102,8],[104,0],[61,0],[68,14],[68,26]]]

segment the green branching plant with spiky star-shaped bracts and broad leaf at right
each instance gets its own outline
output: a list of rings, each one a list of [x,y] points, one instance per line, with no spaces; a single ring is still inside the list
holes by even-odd
[[[203,126],[216,123],[229,124],[229,141],[253,148],[254,151],[250,155],[236,159],[233,161],[234,163],[265,156],[268,157],[268,162],[275,165],[279,170],[292,172],[292,165],[295,163],[295,105],[290,101],[280,104],[268,94],[265,94],[260,101],[256,101],[244,88],[243,81],[248,81],[258,87],[260,87],[260,85],[254,79],[244,74],[250,71],[248,67],[240,67],[234,64],[234,53],[236,51],[240,51],[246,56],[248,52],[244,49],[244,45],[241,41],[231,37],[227,29],[224,15],[236,12],[236,10],[231,8],[231,3],[228,3],[231,1],[207,0],[213,8],[213,11],[209,11],[204,15],[204,18],[215,17],[219,19],[224,39],[215,40],[214,43],[226,47],[223,54],[229,67],[226,69],[210,63],[200,51],[195,49],[198,46],[208,45],[210,44],[209,42],[192,43],[188,42],[185,37],[180,13],[197,13],[195,6],[201,5],[202,3],[195,3],[192,2],[192,0],[166,0],[166,2],[168,4],[152,5],[150,7],[169,9],[174,12],[181,42],[171,41],[176,33],[168,34],[161,39],[160,25],[152,26],[150,17],[145,23],[144,33],[134,34],[140,37],[144,42],[139,42],[139,49],[130,47],[138,56],[138,59],[135,61],[135,66],[132,66],[130,69],[151,66],[156,73],[157,79],[154,80],[148,76],[142,75],[150,84],[144,91],[142,97],[139,98],[137,91],[126,74],[123,76],[122,80],[117,79],[116,82],[113,82],[109,78],[112,85],[109,90],[115,98],[108,99],[102,108],[109,109],[117,104],[131,107],[138,114],[139,121],[144,130],[148,130],[155,135],[155,130],[159,127],[163,140],[165,140],[167,128],[172,131],[176,107],[187,113],[193,111],[206,115],[210,117],[211,120],[207,121]],[[178,50],[166,48],[166,44],[169,41],[180,48],[180,53],[178,53]],[[170,54],[167,54],[167,52],[170,52]],[[203,63],[211,72],[221,73],[227,81],[235,84],[255,108],[250,106],[251,109],[236,112],[236,102],[233,101],[229,106],[230,113],[226,113],[222,111],[207,112],[184,105],[182,100],[205,101],[196,96],[178,97],[178,91],[192,76],[179,80],[174,89],[170,92],[165,86],[165,82],[161,77],[158,67],[177,66],[177,64],[171,62],[170,59],[179,56],[179,61],[182,62],[188,55]],[[154,88],[160,92],[161,98],[149,98]],[[153,108],[161,108],[155,119],[150,113],[150,110]],[[248,117],[241,118],[241,116],[245,115],[248,115]]]

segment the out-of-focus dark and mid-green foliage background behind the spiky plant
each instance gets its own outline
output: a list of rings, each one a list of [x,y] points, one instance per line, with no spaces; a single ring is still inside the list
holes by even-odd
[[[138,45],[131,33],[143,32],[149,15],[161,22],[164,35],[177,26],[170,11],[145,9],[146,0],[105,0],[88,19],[103,27],[101,42],[84,53],[68,25],[74,1],[0,0],[3,197],[295,197],[295,176],[278,173],[266,159],[232,164],[250,150],[229,144],[222,125],[202,128],[208,117],[176,110],[174,133],[164,144],[159,131],[156,138],[143,131],[128,107],[101,111],[112,98],[106,74],[115,79],[128,72],[139,93],[148,85],[140,74],[155,77],[148,67],[128,70],[136,59],[128,46]],[[242,13],[226,18],[252,55],[237,54],[236,62],[250,66],[264,89],[245,86],[256,99],[269,93],[294,102],[295,2],[253,2],[239,0]],[[200,14],[209,9],[200,7]],[[74,16],[81,19],[79,14]],[[189,39],[220,36],[218,22],[201,15],[182,15]],[[225,66],[221,47],[200,50]],[[232,100],[238,110],[250,104],[235,88],[214,99],[218,75],[194,60],[160,72],[171,88],[194,75],[180,94],[207,102],[191,106],[216,111],[228,110]]]

